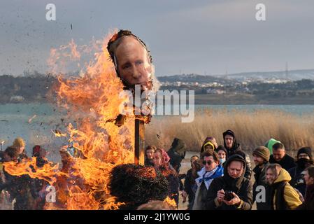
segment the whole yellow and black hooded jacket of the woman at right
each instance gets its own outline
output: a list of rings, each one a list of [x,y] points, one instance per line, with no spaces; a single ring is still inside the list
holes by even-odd
[[[292,210],[302,204],[299,194],[288,183],[291,176],[285,169],[280,170],[277,179],[271,185],[271,209]]]

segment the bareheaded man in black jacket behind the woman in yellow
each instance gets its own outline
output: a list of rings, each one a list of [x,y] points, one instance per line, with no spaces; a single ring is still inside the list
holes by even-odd
[[[273,155],[271,155],[269,163],[278,163],[285,170],[289,170],[296,166],[294,158],[287,155],[285,146],[282,143],[273,145]]]

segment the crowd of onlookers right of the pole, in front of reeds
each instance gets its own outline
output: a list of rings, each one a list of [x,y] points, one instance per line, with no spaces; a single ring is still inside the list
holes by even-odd
[[[252,169],[250,155],[241,149],[234,132],[227,130],[222,137],[223,145],[214,137],[205,139],[186,174],[179,174],[186,151],[180,139],[173,140],[167,153],[148,146],[145,166],[161,171],[168,181],[168,196],[178,204],[181,194],[190,210],[251,210],[254,202],[257,210],[314,209],[310,147],[300,148],[294,160],[280,141],[269,139],[252,151]]]

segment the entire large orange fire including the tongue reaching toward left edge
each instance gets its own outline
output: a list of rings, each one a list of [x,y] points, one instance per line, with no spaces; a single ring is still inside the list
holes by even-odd
[[[35,158],[18,165],[14,162],[5,165],[10,174],[28,174],[55,186],[57,202],[46,203],[45,209],[118,209],[121,205],[110,196],[107,184],[115,165],[134,162],[134,116],[127,116],[120,127],[115,125],[120,105],[127,98],[119,98],[123,85],[109,60],[108,40],[104,38],[101,52],[94,55],[94,60],[79,77],[58,76],[57,104],[65,108],[76,123],[69,123],[67,133],[54,133],[56,137],[68,138],[69,145],[82,156],[73,156],[71,167],[61,170],[52,163],[36,167]],[[71,41],[68,47],[71,58],[78,59],[80,52],[76,44]],[[62,59],[60,55],[65,48],[52,49],[50,56],[54,58],[49,61]]]

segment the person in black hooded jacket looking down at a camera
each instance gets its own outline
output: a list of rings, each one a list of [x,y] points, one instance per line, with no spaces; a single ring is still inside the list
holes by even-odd
[[[231,155],[224,165],[224,176],[213,180],[208,188],[206,209],[250,210],[252,184],[244,177],[246,162],[238,154]]]

